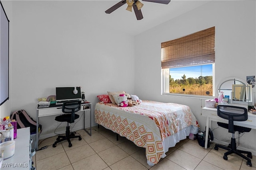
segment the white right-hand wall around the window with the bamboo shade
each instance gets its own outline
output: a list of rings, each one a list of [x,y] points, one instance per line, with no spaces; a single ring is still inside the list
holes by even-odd
[[[227,77],[246,80],[246,76],[256,75],[255,6],[255,1],[211,1],[137,35],[135,94],[141,99],[190,106],[204,131],[206,118],[201,116],[204,100],[161,95],[161,43],[215,26],[215,84]],[[221,127],[214,131],[214,137],[230,140],[226,135]],[[252,129],[240,138],[239,146],[256,150],[255,139],[256,131]]]

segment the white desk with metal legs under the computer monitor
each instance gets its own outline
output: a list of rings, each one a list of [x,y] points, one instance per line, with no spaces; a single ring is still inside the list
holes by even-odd
[[[90,110],[90,133],[85,129],[85,120],[84,120],[84,131],[86,131],[90,136],[92,136],[92,109],[90,102],[84,102],[81,104],[80,111]],[[38,118],[43,116],[59,115],[62,113],[62,105],[50,104],[50,107],[46,108],[37,108],[36,109],[36,150],[38,150]]]

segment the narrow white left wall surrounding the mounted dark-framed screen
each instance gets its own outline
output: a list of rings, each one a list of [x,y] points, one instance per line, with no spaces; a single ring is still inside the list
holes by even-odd
[[[9,100],[7,100],[6,102],[4,102],[4,104],[2,104],[0,106],[0,118],[6,117],[6,116],[10,116],[11,113],[11,101],[12,101],[12,1],[8,1],[8,0],[4,0],[1,1],[3,7],[4,7],[4,11],[6,12],[6,15],[8,17],[8,20],[10,20],[9,22]]]

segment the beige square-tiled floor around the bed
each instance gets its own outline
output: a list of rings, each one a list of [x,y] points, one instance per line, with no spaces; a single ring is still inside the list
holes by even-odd
[[[190,139],[180,141],[158,164],[149,166],[144,148],[124,137],[116,141],[116,134],[104,127],[93,129],[92,136],[84,130],[77,131],[82,140],[71,139],[70,148],[67,141],[53,148],[56,137],[39,141],[39,148],[50,146],[33,156],[36,170],[256,170],[256,156],[249,167],[240,156],[232,154],[224,160],[226,150],[203,149]]]

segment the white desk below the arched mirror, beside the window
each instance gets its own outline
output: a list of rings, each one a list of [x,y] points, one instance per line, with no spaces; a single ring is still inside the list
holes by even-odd
[[[206,129],[205,129],[205,149],[207,149],[207,141],[208,141],[208,133],[209,133],[209,127],[212,128],[212,121],[219,121],[222,123],[228,123],[228,120],[223,119],[218,116],[217,109],[211,108],[211,107],[203,107],[202,108],[202,116],[207,117],[206,120]],[[248,119],[247,121],[234,121],[234,125],[242,126],[242,127],[248,127],[251,129],[256,129],[256,115],[248,112]]]

